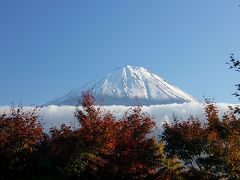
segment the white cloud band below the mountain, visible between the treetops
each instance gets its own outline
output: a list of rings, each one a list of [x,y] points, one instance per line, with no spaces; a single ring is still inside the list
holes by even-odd
[[[235,104],[218,103],[219,115],[223,115],[228,111],[228,106],[235,106]],[[1,106],[0,113],[8,112],[9,106]],[[31,109],[33,107],[24,107],[24,109]],[[121,117],[126,112],[129,106],[103,106],[103,109],[112,112],[117,118]],[[144,112],[152,115],[156,120],[158,129],[164,122],[171,122],[173,114],[177,115],[180,119],[186,120],[190,115],[198,116],[204,119],[204,106],[202,103],[184,103],[184,104],[169,104],[169,105],[153,105],[143,106]],[[78,122],[74,117],[76,107],[74,106],[55,106],[51,105],[43,107],[38,110],[40,120],[44,123],[45,131],[48,132],[50,127],[59,127],[65,123],[72,127],[77,127]]]

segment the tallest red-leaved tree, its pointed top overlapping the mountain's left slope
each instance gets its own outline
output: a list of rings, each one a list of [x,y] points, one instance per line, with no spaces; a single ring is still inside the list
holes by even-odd
[[[75,113],[81,125],[76,132],[78,142],[65,170],[69,176],[81,179],[99,178],[106,172],[115,149],[118,123],[111,113],[95,106],[90,94],[83,95],[82,106],[83,110]]]

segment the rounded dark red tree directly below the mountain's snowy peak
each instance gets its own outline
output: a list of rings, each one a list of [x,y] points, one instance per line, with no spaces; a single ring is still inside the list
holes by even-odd
[[[154,137],[150,136],[155,126],[152,117],[136,107],[125,113],[119,125],[113,157],[117,163],[116,176],[134,179],[155,173],[161,154]]]

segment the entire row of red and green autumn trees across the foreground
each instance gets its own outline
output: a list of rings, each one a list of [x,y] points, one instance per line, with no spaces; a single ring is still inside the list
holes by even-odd
[[[37,109],[12,107],[0,115],[0,179],[239,179],[240,119],[219,117],[207,100],[205,121],[190,116],[163,126],[140,107],[120,119],[83,95],[79,128],[62,124],[48,134]],[[203,123],[204,122],[204,123]]]

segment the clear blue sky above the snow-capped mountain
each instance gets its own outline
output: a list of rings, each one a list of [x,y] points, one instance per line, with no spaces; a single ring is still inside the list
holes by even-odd
[[[43,104],[116,67],[143,66],[217,102],[240,73],[237,0],[1,0],[0,105]]]

